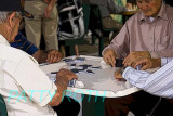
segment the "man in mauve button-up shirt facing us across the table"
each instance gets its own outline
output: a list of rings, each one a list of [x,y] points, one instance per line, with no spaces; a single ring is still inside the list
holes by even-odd
[[[143,57],[173,56],[173,8],[162,0],[136,0],[141,9],[127,21],[120,33],[103,51],[104,61],[116,66],[116,59],[124,59],[124,66],[133,66]],[[125,116],[132,111],[137,116],[148,114],[158,96],[145,91],[117,98],[105,99],[106,116]],[[164,115],[163,109],[162,115]]]

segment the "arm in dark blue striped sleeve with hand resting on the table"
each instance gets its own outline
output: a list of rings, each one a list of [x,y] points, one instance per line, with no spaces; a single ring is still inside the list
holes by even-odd
[[[15,40],[10,44],[32,55],[39,63],[55,63],[62,60],[61,52],[57,50],[39,50],[35,44],[29,42],[22,33],[18,33],[18,35],[15,37]]]

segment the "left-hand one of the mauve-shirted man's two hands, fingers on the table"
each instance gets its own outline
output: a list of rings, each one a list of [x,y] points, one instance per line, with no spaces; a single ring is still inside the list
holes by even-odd
[[[111,65],[112,67],[115,67],[115,64],[116,64],[116,53],[115,53],[114,50],[111,50],[111,49],[105,50],[103,59],[106,62],[106,64]]]

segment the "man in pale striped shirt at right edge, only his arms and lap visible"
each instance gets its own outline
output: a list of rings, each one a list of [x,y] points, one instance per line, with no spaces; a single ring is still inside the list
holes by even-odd
[[[156,108],[157,114],[161,114],[159,109],[164,109],[167,115],[173,115],[173,59],[143,59],[134,65],[141,66],[142,69],[155,68],[162,66],[154,74],[144,70],[135,70],[132,67],[127,67],[121,75],[120,70],[115,72],[115,78],[130,81],[133,86],[143,89],[150,94],[172,99],[162,100]]]

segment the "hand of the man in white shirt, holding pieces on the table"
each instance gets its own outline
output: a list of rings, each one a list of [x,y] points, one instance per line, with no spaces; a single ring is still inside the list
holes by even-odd
[[[78,79],[78,76],[76,74],[74,74],[72,72],[65,69],[65,68],[61,68],[59,72],[57,73],[57,75],[59,77],[65,77],[69,80],[71,79]]]

